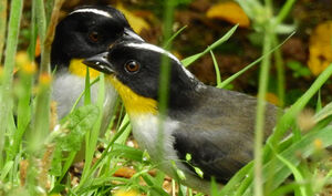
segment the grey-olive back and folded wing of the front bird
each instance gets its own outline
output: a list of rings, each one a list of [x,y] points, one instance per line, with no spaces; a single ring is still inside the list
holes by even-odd
[[[186,154],[190,154],[190,164],[199,167],[205,178],[214,176],[225,183],[252,159],[257,101],[225,90],[204,96],[200,100],[205,104],[197,106],[190,114],[177,116],[183,118],[183,123],[173,134],[174,147],[179,158],[185,159]],[[272,132],[276,115],[277,107],[268,104],[266,136]]]

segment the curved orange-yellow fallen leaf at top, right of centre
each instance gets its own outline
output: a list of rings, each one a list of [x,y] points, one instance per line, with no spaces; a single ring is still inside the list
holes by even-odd
[[[220,19],[239,27],[248,28],[250,25],[249,18],[239,4],[228,1],[212,6],[206,13],[209,19]]]

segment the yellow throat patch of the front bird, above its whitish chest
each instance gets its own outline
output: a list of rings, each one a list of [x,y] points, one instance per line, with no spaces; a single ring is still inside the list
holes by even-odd
[[[120,94],[129,115],[157,114],[157,101],[136,94],[114,75],[107,75],[106,80],[113,84]]]

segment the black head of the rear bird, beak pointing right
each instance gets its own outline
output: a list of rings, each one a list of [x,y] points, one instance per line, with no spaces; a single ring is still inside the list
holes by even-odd
[[[77,8],[56,27],[51,53],[52,68],[68,66],[72,59],[101,53],[118,39],[143,41],[115,8]]]

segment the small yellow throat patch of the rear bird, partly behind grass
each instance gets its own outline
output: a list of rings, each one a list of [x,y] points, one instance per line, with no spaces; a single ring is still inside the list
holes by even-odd
[[[85,64],[83,64],[82,61],[83,61],[83,59],[71,60],[70,65],[69,65],[69,72],[74,75],[85,78],[87,66]],[[89,74],[90,74],[90,79],[95,79],[100,75],[100,72],[89,68]]]

